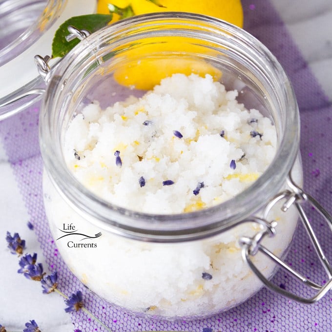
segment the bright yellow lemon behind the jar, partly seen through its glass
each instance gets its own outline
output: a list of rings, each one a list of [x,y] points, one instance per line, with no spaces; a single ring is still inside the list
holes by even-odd
[[[108,4],[119,8],[130,6],[134,15],[180,11],[213,16],[239,27],[243,25],[240,0],[99,0],[97,12],[109,14]],[[110,24],[121,18],[121,15],[114,13]],[[143,46],[128,50],[125,53],[125,64],[114,70],[114,79],[121,85],[143,90],[152,89],[162,79],[175,73],[185,75],[195,73],[202,77],[210,74],[215,81],[218,81],[222,74],[220,70],[203,59],[190,56],[190,53],[200,53],[200,47],[180,39],[168,37],[166,43],[165,40],[158,43],[158,40],[147,39]],[[175,57],[160,56],[170,52],[176,52],[177,55]],[[184,53],[189,55],[185,56]],[[146,57],[151,54],[155,56]],[[213,54],[211,53],[210,56]]]

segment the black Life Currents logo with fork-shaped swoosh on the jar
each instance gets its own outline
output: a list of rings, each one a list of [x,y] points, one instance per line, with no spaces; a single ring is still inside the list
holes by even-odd
[[[84,234],[71,224],[62,224],[62,228],[58,228],[62,235],[57,238],[57,241],[67,241],[68,248],[97,248],[96,239],[102,236],[102,232],[97,234]]]

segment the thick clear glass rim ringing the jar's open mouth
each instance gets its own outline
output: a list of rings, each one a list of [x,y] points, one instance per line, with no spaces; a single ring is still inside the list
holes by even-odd
[[[265,172],[247,189],[235,197],[213,207],[180,213],[148,214],[115,206],[92,194],[74,178],[66,167],[61,153],[59,132],[51,129],[55,117],[54,103],[62,98],[61,86],[69,69],[75,67],[77,56],[86,56],[100,40],[107,36],[119,37],[119,31],[142,29],[153,22],[187,22],[203,26],[209,33],[229,34],[242,42],[253,54],[264,54],[262,66],[269,68],[267,75],[274,75],[282,83],[281,98],[288,106],[285,112],[285,130],[272,163]],[[166,23],[165,23],[166,24]],[[169,23],[171,24],[171,23]],[[271,63],[273,68],[271,68]],[[53,106],[52,106],[53,105]],[[53,120],[52,120],[53,119]],[[227,230],[253,212],[263,207],[285,183],[299,149],[299,112],[290,81],[280,63],[261,42],[248,32],[226,21],[199,14],[182,12],[153,13],[118,21],[87,37],[62,60],[52,73],[44,98],[40,118],[40,144],[46,173],[62,193],[62,197],[92,223],[113,233],[133,239],[154,242],[190,241],[212,236]]]

